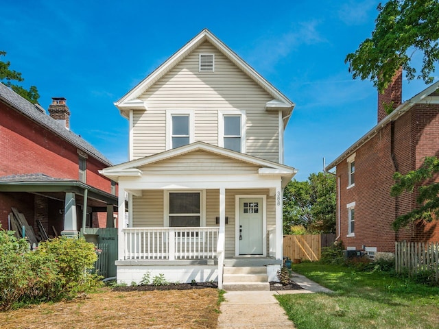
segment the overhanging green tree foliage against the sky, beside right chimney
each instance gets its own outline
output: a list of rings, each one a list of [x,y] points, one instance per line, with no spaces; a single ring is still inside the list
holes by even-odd
[[[438,0],[390,0],[377,10],[372,36],[346,56],[349,72],[354,78],[370,79],[382,93],[401,66],[407,80],[414,79],[412,56],[420,51],[423,64],[416,78],[433,82],[431,73],[439,59]]]

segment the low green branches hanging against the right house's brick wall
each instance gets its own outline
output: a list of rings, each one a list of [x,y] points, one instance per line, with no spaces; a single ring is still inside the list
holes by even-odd
[[[412,193],[416,188],[418,192],[416,202],[419,205],[418,208],[399,216],[392,223],[394,230],[399,230],[417,219],[425,221],[432,221],[434,217],[439,219],[439,183],[431,181],[437,173],[439,173],[439,158],[436,156],[427,156],[419,169],[405,175],[394,173],[393,178],[396,183],[392,186],[390,194],[396,197],[404,192]]]

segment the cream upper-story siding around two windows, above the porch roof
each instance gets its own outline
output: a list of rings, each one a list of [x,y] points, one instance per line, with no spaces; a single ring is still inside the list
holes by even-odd
[[[199,72],[200,53],[215,55],[215,72]],[[133,160],[166,149],[166,111],[193,110],[194,141],[218,145],[218,111],[246,112],[246,153],[278,162],[278,112],[272,97],[209,42],[204,42],[143,95],[147,110],[133,110]]]

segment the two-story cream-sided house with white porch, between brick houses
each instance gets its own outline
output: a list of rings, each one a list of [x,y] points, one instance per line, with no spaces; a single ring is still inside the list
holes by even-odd
[[[115,105],[130,121],[129,161],[102,171],[119,183],[119,204],[129,196],[117,280],[149,271],[222,287],[224,269],[231,289],[235,266],[249,273],[239,280],[268,287],[296,173],[283,164],[294,103],[204,29]]]

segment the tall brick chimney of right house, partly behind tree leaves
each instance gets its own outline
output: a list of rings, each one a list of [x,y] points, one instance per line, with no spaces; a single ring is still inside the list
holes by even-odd
[[[378,123],[388,116],[385,112],[386,106],[397,108],[403,102],[403,68],[400,67],[393,76],[392,82],[385,88],[384,93],[378,93]]]

